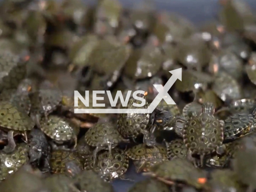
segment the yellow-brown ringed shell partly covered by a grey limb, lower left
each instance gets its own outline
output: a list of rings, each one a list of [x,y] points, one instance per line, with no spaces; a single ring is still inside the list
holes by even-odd
[[[70,152],[66,150],[55,150],[52,152],[50,158],[50,166],[52,173],[65,173],[66,163],[74,161],[79,168],[83,168],[80,159],[75,152]]]

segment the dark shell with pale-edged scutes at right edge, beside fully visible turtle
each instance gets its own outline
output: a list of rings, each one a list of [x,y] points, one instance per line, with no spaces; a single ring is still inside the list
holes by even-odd
[[[234,140],[249,133],[256,123],[252,114],[243,112],[231,114],[224,122],[224,141]]]

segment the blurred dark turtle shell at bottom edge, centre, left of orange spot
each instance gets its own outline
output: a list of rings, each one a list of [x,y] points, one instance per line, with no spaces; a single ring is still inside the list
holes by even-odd
[[[156,192],[156,191],[169,192],[170,189],[168,185],[158,180],[147,178],[146,180],[136,182],[136,184],[134,184],[128,190],[128,192]]]

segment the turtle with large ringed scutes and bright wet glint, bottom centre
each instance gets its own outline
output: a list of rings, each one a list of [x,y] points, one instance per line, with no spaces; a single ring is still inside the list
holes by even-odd
[[[124,150],[118,148],[114,148],[111,153],[111,155],[109,152],[98,154],[95,165],[93,156],[87,158],[84,169],[94,170],[106,181],[123,178],[129,166],[129,158],[125,155]]]

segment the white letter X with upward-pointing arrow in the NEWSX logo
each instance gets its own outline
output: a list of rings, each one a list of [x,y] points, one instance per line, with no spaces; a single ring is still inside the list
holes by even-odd
[[[158,104],[161,102],[162,99],[166,101],[168,105],[175,105],[176,103],[174,100],[170,97],[168,94],[168,91],[173,86],[173,84],[176,82],[177,79],[182,81],[182,68],[178,68],[172,71],[169,71],[172,76],[170,79],[166,82],[164,86],[159,84],[154,84],[154,87],[159,92],[158,95],[154,98],[153,102],[148,106],[148,110],[150,113],[152,113],[155,108],[158,106]]]

